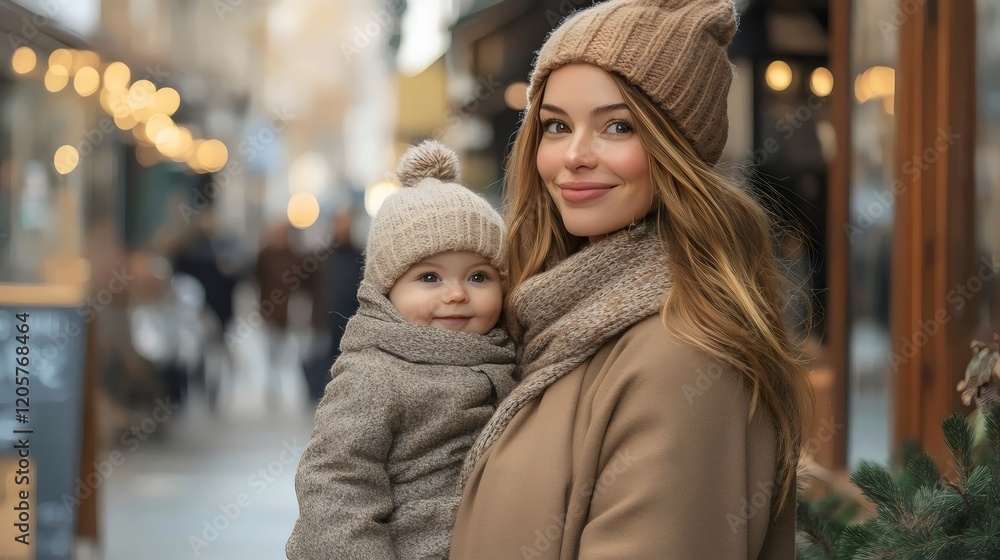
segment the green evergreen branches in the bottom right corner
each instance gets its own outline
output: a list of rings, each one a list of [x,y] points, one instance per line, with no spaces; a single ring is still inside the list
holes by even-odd
[[[851,523],[857,504],[830,496],[800,499],[796,509],[799,560],[1000,559],[1000,405],[984,411],[986,441],[973,449],[973,426],[961,413],[942,423],[955,479],[941,474],[923,451],[910,453],[893,473],[862,462],[851,482],[876,506],[876,515]]]

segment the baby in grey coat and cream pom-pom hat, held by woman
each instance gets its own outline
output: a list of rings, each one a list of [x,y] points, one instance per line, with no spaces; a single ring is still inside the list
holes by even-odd
[[[514,386],[503,220],[428,141],[375,216],[360,308],[295,474],[297,559],[447,558],[466,452]]]

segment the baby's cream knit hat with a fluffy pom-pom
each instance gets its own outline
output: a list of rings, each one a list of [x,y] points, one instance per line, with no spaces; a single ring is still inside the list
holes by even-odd
[[[400,158],[402,189],[389,195],[372,220],[364,279],[383,294],[417,262],[447,251],[471,251],[507,276],[506,230],[482,196],[457,183],[458,156],[427,140]]]

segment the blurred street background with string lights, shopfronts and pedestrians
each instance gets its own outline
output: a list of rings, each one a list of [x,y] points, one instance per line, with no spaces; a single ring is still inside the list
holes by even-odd
[[[500,208],[535,51],[590,4],[0,0],[0,557],[284,558],[395,162],[439,139]],[[944,462],[1000,330],[1000,1],[736,5],[720,168],[782,224],[808,459]]]

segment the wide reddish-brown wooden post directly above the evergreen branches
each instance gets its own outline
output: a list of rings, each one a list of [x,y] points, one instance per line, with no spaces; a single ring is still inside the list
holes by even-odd
[[[971,0],[914,5],[900,26],[892,362],[896,449],[916,440],[950,464],[941,422],[962,408],[975,277],[975,9]]]

